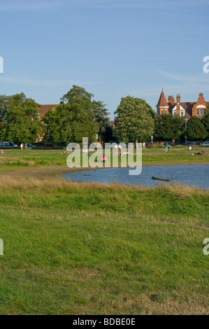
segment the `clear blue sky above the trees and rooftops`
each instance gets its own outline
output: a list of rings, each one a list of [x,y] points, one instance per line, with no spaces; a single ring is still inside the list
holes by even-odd
[[[208,0],[1,0],[0,94],[59,104],[72,85],[113,112],[128,94],[155,110],[161,87],[209,101]]]

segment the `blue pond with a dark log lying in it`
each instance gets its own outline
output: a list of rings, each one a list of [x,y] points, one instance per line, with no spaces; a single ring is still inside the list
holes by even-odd
[[[91,176],[85,176],[91,175]],[[129,168],[92,169],[82,172],[63,174],[62,179],[78,182],[99,182],[120,184],[143,185],[154,187],[160,181],[155,181],[152,176],[161,179],[170,179],[171,183],[177,182],[187,186],[209,188],[209,165],[171,165],[143,167],[138,176],[130,176]]]

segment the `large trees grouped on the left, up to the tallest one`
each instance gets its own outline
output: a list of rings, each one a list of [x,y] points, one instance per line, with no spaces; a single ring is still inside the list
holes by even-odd
[[[71,141],[80,143],[82,137],[89,142],[112,139],[108,110],[103,102],[92,100],[93,94],[84,88],[73,85],[64,94],[59,106],[50,110],[40,121],[40,104],[27,98],[23,93],[11,97],[0,96],[0,139],[14,141],[16,144],[27,141],[33,143],[37,136],[45,136],[45,141],[57,145]],[[108,136],[109,135],[109,136]]]

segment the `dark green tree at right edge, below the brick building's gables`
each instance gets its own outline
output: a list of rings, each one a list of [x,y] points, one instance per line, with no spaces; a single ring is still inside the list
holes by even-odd
[[[189,119],[189,123],[187,126],[187,137],[191,140],[203,140],[207,137],[206,127],[203,125],[203,121],[201,118],[197,118],[193,116]]]

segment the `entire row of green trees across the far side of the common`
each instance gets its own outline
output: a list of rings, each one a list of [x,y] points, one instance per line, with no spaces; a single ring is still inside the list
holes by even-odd
[[[59,106],[51,109],[39,120],[40,105],[23,93],[11,97],[0,95],[1,140],[32,143],[37,135],[57,145],[71,141],[80,143],[82,137],[95,141],[169,141],[209,139],[209,108],[204,118],[192,117],[187,125],[185,119],[156,113],[144,99],[123,97],[115,111],[115,127],[110,126],[109,113],[103,102],[93,100],[94,95],[84,88],[73,85],[61,98]]]

